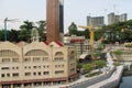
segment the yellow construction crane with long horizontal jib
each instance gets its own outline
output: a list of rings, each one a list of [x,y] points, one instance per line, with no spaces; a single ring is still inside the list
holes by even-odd
[[[98,30],[99,28],[94,26],[92,24],[90,24],[90,26],[81,26],[81,25],[79,25],[78,28],[89,30],[89,32],[90,32],[90,46],[91,46],[91,48],[94,48],[95,31]]]

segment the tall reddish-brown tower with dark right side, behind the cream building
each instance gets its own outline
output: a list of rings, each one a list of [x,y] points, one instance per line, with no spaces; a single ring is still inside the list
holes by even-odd
[[[46,0],[47,42],[63,41],[64,34],[64,0]]]

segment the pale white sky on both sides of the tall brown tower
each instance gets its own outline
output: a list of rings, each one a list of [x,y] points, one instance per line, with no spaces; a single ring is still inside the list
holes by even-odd
[[[131,4],[132,0],[64,0],[65,32],[72,22],[77,25],[86,25],[86,16],[89,14],[107,16],[110,12],[128,13],[130,20],[132,19]],[[46,0],[0,0],[0,28],[3,28],[4,18],[21,21],[8,22],[8,29],[18,29],[25,20],[33,22],[46,20]]]

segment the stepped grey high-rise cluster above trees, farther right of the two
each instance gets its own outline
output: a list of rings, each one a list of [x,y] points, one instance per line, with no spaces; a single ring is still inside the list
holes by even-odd
[[[124,22],[127,20],[128,20],[128,14],[127,13],[118,15],[118,14],[114,14],[112,12],[112,13],[108,14],[108,24],[113,24],[113,23],[117,23],[117,22]]]

